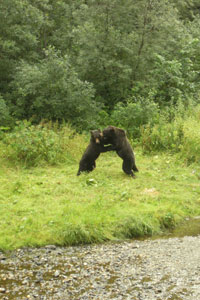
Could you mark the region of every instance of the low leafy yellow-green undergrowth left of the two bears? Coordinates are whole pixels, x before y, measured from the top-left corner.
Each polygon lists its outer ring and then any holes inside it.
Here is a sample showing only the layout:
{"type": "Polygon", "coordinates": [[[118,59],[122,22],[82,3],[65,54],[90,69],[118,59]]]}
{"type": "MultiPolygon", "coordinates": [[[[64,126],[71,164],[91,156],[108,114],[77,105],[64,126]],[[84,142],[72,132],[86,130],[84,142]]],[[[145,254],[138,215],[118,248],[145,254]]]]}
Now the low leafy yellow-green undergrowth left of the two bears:
{"type": "Polygon", "coordinates": [[[51,122],[39,125],[19,122],[13,131],[3,135],[2,141],[3,156],[26,167],[75,161],[84,145],[84,137],[69,125],[51,122]]]}

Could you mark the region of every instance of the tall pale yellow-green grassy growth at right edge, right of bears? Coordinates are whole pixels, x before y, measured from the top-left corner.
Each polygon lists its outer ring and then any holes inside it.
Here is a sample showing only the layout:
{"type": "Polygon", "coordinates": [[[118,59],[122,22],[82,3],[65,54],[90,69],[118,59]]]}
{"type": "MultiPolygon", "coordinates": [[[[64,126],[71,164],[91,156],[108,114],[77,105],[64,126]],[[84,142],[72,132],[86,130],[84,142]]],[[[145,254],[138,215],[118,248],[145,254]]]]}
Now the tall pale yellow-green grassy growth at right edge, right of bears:
{"type": "Polygon", "coordinates": [[[164,115],[159,122],[141,127],[141,145],[144,153],[172,151],[187,163],[200,161],[200,106],[175,113],[172,120],[164,115]]]}

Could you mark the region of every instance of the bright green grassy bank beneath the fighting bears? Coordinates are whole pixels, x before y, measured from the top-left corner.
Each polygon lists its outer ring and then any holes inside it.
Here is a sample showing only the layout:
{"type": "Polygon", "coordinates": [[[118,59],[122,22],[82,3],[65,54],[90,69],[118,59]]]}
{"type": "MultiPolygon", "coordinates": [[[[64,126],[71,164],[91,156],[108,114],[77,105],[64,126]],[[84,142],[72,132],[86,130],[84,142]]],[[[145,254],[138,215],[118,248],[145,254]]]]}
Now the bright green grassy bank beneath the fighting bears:
{"type": "Polygon", "coordinates": [[[144,156],[133,180],[115,153],[76,176],[70,165],[31,169],[0,166],[0,249],[76,245],[160,234],[186,216],[200,215],[200,166],[176,156],[144,156]]]}

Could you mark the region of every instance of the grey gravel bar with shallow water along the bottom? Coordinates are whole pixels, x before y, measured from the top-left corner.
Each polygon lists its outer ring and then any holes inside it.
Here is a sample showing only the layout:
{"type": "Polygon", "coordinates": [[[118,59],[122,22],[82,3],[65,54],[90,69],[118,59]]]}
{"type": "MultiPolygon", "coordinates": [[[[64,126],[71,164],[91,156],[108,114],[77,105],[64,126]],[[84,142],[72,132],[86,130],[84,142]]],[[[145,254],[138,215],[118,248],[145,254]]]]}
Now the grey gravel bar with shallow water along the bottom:
{"type": "Polygon", "coordinates": [[[0,299],[200,299],[200,236],[0,252],[0,299]]]}

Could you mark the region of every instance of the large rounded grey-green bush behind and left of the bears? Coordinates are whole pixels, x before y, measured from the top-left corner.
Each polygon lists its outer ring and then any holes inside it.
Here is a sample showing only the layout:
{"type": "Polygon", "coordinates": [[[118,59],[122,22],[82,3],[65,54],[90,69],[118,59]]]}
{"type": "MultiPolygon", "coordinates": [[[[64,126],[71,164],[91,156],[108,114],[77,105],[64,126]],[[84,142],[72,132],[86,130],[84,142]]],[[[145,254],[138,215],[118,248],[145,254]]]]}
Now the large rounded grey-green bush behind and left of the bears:
{"type": "Polygon", "coordinates": [[[95,126],[99,111],[92,84],[81,81],[69,57],[49,48],[35,65],[22,62],[12,82],[13,113],[40,122],[65,120],[81,130],[95,126]]]}

